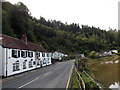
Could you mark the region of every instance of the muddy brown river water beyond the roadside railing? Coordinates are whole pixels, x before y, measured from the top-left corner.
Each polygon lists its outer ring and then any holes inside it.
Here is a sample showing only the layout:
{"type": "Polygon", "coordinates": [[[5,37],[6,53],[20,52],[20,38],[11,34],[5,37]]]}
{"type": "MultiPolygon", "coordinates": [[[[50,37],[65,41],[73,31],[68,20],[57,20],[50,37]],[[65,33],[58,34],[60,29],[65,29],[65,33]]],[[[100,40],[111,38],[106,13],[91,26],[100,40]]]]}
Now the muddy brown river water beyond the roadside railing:
{"type": "Polygon", "coordinates": [[[118,81],[118,63],[116,61],[102,61],[94,63],[90,66],[95,79],[98,80],[105,87],[113,87],[117,85],[118,81]]]}

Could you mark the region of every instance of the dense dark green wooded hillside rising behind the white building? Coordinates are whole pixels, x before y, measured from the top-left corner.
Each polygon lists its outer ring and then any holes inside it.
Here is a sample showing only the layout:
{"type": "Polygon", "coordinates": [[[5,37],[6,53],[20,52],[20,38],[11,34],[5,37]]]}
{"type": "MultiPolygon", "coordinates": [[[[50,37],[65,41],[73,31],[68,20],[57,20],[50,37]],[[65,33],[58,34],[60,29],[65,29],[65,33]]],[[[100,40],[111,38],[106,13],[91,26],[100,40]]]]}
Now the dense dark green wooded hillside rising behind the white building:
{"type": "Polygon", "coordinates": [[[80,28],[76,23],[68,25],[56,20],[47,21],[44,17],[36,19],[21,2],[15,5],[4,2],[2,16],[3,34],[20,39],[26,33],[28,41],[42,44],[49,51],[88,54],[120,47],[120,31],[86,25],[80,28]]]}

